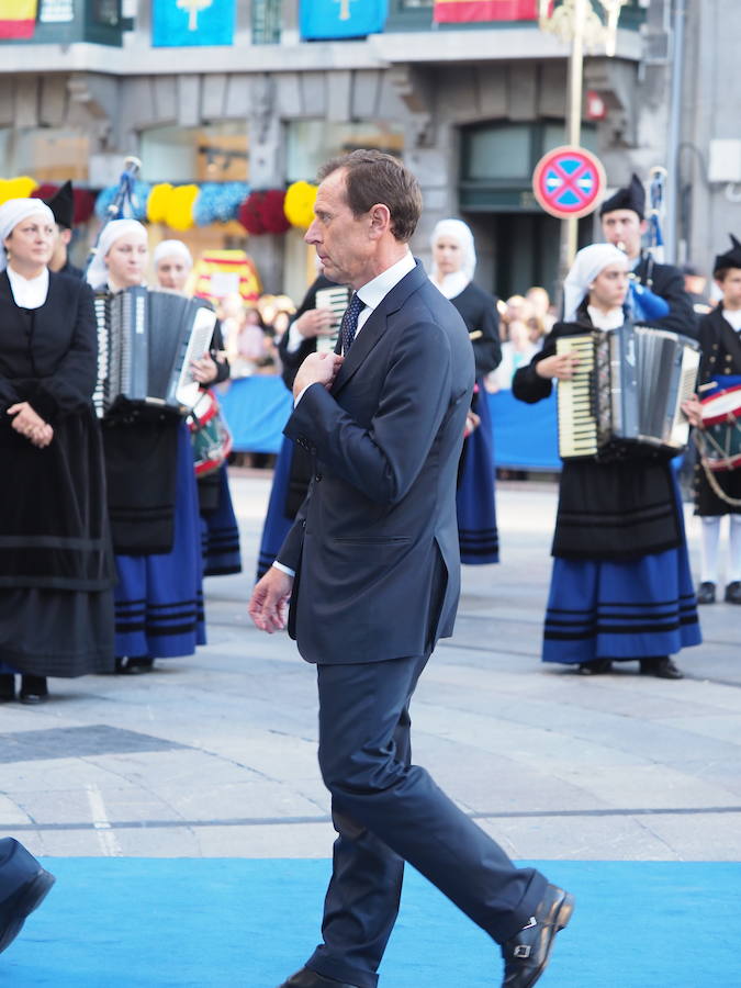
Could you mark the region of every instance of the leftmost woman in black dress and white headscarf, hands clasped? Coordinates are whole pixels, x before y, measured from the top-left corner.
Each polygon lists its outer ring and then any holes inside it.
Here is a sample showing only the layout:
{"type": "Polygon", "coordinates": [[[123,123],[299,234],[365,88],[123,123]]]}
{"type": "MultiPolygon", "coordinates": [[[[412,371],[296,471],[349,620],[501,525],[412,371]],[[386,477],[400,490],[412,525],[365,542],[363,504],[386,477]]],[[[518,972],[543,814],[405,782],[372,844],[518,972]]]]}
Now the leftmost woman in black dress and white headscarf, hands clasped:
{"type": "Polygon", "coordinates": [[[0,206],[0,700],[113,669],[114,579],[92,394],[92,292],[48,269],[54,214],[0,206]]]}

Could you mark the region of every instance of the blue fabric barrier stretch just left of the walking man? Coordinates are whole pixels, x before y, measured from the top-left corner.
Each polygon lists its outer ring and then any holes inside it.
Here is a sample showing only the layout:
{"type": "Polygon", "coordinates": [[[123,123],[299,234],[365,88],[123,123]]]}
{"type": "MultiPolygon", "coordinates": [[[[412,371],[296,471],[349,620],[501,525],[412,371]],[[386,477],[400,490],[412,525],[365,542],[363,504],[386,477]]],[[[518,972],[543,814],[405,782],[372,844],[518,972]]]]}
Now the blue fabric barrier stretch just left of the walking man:
{"type": "Polygon", "coordinates": [[[277,374],[237,378],[218,392],[222,413],[234,438],[235,452],[274,452],[283,441],[293,401],[277,374]]]}

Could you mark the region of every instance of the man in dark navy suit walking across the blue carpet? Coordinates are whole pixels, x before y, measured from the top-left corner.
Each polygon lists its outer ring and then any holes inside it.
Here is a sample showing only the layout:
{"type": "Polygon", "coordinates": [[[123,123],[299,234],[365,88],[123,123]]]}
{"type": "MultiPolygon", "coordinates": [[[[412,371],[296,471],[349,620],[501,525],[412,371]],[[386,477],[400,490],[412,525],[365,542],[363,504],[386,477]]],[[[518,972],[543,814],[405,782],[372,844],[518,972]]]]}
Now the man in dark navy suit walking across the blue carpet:
{"type": "Polygon", "coordinates": [[[323,942],[281,988],[375,988],[404,862],[502,945],[505,984],[534,985],[573,900],[502,849],[411,764],[409,701],[452,632],[456,473],[473,388],[465,326],[408,250],[422,198],[395,158],[358,150],[321,173],[306,240],[355,289],[343,355],[314,353],[287,435],[312,490],[255,588],[258,628],[317,664],[319,766],[338,838],[323,942]]]}

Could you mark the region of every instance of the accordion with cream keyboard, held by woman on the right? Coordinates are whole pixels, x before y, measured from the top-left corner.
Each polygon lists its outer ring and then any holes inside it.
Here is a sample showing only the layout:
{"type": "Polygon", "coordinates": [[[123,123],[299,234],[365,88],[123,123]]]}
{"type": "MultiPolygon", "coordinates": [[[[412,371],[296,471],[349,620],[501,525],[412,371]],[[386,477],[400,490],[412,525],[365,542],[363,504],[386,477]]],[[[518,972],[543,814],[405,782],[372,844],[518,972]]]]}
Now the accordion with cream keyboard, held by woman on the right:
{"type": "Polygon", "coordinates": [[[699,369],[694,339],[627,323],[561,337],[555,351],[580,358],[573,378],[558,382],[561,459],[673,457],[687,445],[682,402],[693,394],[699,369]]]}

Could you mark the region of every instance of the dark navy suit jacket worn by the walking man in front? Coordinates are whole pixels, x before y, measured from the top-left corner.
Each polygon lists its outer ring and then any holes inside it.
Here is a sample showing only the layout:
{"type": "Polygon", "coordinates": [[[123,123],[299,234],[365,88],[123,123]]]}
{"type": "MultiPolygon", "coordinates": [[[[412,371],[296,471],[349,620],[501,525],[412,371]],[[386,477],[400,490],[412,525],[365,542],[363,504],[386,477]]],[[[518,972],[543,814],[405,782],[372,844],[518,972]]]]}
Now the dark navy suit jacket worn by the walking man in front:
{"type": "Polygon", "coordinates": [[[314,452],[316,476],[278,559],[296,571],[289,631],[307,661],[422,655],[452,633],[473,377],[465,325],[417,263],[332,392],[313,384],[299,402],[285,435],[314,452]]]}

